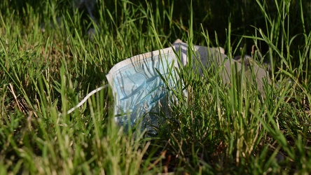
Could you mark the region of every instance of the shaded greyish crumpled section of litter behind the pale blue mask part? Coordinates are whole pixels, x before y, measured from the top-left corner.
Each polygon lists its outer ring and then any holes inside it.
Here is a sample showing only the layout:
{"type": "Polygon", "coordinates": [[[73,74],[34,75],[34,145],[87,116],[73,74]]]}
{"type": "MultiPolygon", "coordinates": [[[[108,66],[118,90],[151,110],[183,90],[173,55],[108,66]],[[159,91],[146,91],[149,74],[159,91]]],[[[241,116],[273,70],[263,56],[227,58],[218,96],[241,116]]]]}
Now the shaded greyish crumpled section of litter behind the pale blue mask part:
{"type": "Polygon", "coordinates": [[[180,52],[181,63],[186,66],[186,64],[193,64],[193,69],[198,69],[199,73],[202,75],[202,69],[213,67],[214,70],[219,71],[222,78],[222,82],[230,85],[230,79],[236,77],[237,75],[244,75],[244,82],[247,83],[249,88],[257,88],[261,92],[261,97],[265,98],[264,86],[265,83],[270,83],[270,78],[268,72],[265,71],[256,62],[254,64],[245,64],[244,69],[242,62],[238,62],[235,59],[228,59],[227,55],[224,54],[223,48],[208,48],[200,45],[193,45],[193,57],[197,57],[202,62],[204,67],[196,67],[194,59],[188,59],[188,44],[177,39],[173,43],[177,52],[180,52]],[[189,62],[193,60],[193,62],[189,62]]]}

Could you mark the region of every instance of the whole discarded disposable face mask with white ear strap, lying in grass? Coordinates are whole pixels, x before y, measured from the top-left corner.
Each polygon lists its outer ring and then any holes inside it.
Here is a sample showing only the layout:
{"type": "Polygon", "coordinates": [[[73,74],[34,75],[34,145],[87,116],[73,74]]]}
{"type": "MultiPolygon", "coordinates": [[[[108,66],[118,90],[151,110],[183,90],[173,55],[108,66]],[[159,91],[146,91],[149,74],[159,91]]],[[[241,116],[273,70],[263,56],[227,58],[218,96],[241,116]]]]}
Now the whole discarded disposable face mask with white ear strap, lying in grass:
{"type": "MultiPolygon", "coordinates": [[[[143,129],[146,128],[149,131],[153,130],[153,126],[157,126],[156,114],[162,111],[166,115],[170,109],[170,102],[174,99],[172,90],[177,87],[177,81],[179,81],[176,70],[180,69],[180,66],[189,64],[190,60],[194,60],[188,59],[188,49],[187,43],[177,40],[171,48],[136,55],[111,68],[106,78],[113,91],[115,121],[118,125],[133,126],[139,121],[143,129]],[[180,62],[177,61],[174,50],[180,57],[180,62]]],[[[268,73],[257,64],[242,69],[240,62],[227,59],[223,48],[193,45],[191,51],[193,51],[193,57],[197,57],[202,62],[202,66],[198,68],[192,63],[193,69],[198,69],[202,74],[203,67],[214,66],[214,69],[219,70],[223,83],[229,84],[233,75],[244,70],[246,80],[257,87],[264,97],[264,81],[270,81],[270,78],[268,73]]],[[[67,113],[74,111],[88,97],[105,87],[107,85],[90,92],[83,101],[67,113]]]]}

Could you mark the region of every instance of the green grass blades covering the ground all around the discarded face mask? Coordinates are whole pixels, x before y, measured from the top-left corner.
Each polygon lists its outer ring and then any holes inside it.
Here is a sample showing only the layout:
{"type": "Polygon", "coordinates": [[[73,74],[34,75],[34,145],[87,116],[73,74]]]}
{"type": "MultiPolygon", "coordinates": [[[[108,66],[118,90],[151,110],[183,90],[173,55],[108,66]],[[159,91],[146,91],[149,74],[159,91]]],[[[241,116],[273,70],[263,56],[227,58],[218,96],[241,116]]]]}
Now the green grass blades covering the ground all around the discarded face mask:
{"type": "Polygon", "coordinates": [[[64,1],[36,3],[0,4],[0,174],[311,172],[309,2],[258,0],[251,10],[239,1],[242,17],[237,5],[218,17],[214,1],[99,1],[93,38],[81,13],[66,10],[64,1]],[[226,24],[209,27],[217,19],[226,24]],[[238,27],[240,20],[252,27],[238,27]],[[67,115],[107,84],[114,64],[177,38],[221,46],[228,57],[265,45],[261,55],[272,64],[265,99],[240,77],[227,86],[212,69],[200,76],[185,66],[179,76],[188,97],[176,90],[179,101],[158,134],[116,126],[110,88],[67,115]]]}

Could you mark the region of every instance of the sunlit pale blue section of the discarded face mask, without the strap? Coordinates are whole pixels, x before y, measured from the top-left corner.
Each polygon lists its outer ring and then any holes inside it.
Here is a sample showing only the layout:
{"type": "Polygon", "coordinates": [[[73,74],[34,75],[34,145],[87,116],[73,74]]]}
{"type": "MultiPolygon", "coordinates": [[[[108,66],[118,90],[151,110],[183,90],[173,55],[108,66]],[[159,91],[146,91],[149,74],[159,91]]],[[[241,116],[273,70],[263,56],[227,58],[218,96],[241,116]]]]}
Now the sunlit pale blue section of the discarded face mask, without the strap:
{"type": "Polygon", "coordinates": [[[142,129],[153,130],[158,124],[153,113],[168,111],[169,88],[176,85],[178,68],[172,48],[130,57],[113,66],[106,78],[113,91],[116,123],[128,127],[142,120],[142,129]]]}

